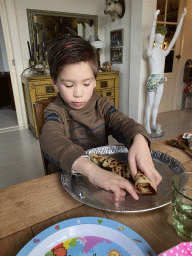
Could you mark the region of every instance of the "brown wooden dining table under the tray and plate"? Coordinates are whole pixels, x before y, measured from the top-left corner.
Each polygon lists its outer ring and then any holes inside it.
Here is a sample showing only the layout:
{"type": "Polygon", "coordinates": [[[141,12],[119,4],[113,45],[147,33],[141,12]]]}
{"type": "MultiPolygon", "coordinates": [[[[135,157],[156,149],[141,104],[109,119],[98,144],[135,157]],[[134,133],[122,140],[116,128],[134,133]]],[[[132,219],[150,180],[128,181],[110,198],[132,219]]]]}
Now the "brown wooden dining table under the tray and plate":
{"type": "MultiPolygon", "coordinates": [[[[155,142],[152,149],[180,161],[192,169],[192,155],[185,150],[155,142]]],[[[101,211],[76,201],[55,173],[0,190],[0,255],[14,256],[34,236],[60,221],[95,216],[118,221],[142,236],[159,254],[181,242],[170,222],[171,204],[142,213],[101,211]]]]}

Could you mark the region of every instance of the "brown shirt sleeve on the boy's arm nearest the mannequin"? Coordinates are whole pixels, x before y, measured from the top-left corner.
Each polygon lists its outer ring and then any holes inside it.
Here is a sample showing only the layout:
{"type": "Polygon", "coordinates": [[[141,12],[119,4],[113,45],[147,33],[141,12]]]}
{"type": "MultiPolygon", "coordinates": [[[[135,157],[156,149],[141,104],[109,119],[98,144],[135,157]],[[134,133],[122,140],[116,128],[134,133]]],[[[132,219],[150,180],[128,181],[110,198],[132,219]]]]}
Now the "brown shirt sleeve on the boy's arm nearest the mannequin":
{"type": "Polygon", "coordinates": [[[119,143],[123,143],[129,149],[134,136],[142,134],[151,147],[148,133],[143,125],[118,111],[108,98],[102,98],[100,106],[105,117],[108,135],[112,135],[119,143]]]}

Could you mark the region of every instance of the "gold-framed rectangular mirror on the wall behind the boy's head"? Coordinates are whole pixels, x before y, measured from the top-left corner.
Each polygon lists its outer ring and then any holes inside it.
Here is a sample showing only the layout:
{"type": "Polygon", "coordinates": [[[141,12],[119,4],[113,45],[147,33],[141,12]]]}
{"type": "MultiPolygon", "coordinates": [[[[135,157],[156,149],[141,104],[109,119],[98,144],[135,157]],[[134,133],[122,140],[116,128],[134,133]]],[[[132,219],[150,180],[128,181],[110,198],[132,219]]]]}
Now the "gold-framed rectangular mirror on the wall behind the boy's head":
{"type": "Polygon", "coordinates": [[[80,35],[84,39],[98,37],[98,16],[27,9],[30,42],[30,59],[46,61],[49,42],[61,35],[80,35]]]}

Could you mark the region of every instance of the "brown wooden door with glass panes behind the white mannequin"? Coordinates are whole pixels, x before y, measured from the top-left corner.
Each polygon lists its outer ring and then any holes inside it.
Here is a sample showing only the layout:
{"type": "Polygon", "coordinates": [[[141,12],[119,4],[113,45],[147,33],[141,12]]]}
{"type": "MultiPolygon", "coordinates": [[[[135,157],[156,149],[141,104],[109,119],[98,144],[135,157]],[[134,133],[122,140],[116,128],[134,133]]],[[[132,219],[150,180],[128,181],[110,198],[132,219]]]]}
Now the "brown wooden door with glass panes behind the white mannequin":
{"type": "MultiPolygon", "coordinates": [[[[180,0],[157,0],[157,9],[160,14],[157,18],[157,26],[166,26],[168,33],[165,36],[163,49],[167,49],[171,42],[183,11],[183,1],[180,0]]],[[[182,28],[179,37],[165,60],[165,76],[167,82],[164,85],[163,97],[159,105],[159,112],[171,111],[174,109],[175,84],[180,62],[182,28]]]]}

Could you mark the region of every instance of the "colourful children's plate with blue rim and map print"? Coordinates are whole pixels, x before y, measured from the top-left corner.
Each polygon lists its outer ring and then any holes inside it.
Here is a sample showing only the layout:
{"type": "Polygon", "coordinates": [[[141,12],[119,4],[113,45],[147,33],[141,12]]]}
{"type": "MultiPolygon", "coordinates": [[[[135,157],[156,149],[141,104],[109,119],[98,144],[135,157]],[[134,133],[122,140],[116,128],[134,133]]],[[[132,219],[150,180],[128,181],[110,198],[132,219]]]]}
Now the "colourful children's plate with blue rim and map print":
{"type": "Polygon", "coordinates": [[[17,256],[157,256],[127,226],[104,218],[82,217],[55,224],[35,236],[17,256]]]}

